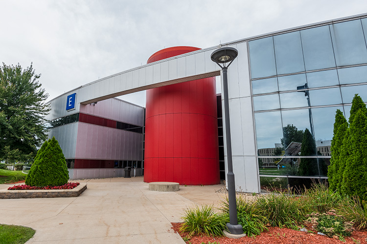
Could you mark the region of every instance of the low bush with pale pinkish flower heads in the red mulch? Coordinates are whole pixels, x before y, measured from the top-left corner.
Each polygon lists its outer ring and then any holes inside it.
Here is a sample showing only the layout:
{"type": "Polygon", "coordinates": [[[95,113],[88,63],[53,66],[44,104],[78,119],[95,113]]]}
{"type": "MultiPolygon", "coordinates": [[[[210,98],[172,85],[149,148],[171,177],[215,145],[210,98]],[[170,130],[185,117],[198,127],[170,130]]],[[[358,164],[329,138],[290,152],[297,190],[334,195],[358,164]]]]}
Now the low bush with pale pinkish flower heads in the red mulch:
{"type": "Polygon", "coordinates": [[[317,231],[328,237],[350,236],[353,231],[353,223],[344,222],[343,216],[337,215],[333,209],[323,214],[312,213],[309,215],[308,221],[317,231]]]}

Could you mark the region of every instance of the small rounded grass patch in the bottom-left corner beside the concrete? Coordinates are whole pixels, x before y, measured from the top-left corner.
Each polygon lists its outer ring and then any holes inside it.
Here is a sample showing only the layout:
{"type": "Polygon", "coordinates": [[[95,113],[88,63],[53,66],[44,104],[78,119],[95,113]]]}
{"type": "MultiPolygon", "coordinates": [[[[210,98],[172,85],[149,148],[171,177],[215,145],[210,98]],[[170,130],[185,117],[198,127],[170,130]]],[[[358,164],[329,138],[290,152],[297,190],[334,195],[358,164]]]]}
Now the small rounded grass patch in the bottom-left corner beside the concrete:
{"type": "Polygon", "coordinates": [[[0,224],[1,244],[23,244],[31,239],[36,231],[19,225],[0,224]]]}

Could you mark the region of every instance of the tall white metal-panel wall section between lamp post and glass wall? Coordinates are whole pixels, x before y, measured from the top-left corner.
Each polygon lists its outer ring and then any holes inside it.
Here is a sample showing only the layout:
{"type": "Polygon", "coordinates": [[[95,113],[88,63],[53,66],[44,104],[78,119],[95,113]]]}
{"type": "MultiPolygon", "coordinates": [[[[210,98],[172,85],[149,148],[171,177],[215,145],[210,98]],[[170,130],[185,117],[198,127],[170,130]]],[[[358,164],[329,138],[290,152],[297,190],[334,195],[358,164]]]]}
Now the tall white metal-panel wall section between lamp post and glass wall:
{"type": "MultiPolygon", "coordinates": [[[[228,68],[230,136],[236,190],[259,193],[247,42],[232,47],[238,50],[238,58],[228,68]]],[[[224,113],[223,100],[222,109],[224,113]]],[[[223,128],[225,126],[226,122],[223,121],[223,128]]],[[[225,129],[223,134],[226,138],[225,129]]],[[[226,140],[224,147],[227,172],[226,140]]]]}

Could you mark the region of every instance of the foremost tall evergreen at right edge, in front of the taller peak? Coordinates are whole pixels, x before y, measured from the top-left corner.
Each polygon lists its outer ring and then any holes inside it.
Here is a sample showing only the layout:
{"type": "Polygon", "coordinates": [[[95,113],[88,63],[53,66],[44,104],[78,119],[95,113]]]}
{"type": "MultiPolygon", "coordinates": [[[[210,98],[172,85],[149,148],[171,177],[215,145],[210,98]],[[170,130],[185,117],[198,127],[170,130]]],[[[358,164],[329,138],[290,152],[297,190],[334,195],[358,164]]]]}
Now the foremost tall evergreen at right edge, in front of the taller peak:
{"type": "Polygon", "coordinates": [[[352,154],[346,160],[342,193],[367,200],[367,116],[363,109],[354,113],[349,130],[352,154]]]}

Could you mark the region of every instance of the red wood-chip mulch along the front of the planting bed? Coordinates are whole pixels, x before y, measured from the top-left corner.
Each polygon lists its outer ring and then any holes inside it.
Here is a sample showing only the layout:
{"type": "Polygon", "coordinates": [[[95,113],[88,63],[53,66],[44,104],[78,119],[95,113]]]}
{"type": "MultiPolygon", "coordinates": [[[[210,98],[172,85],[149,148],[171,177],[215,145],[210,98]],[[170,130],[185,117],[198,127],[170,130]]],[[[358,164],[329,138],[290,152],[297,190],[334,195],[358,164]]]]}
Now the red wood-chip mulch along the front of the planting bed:
{"type": "MultiPolygon", "coordinates": [[[[181,237],[187,237],[187,232],[180,232],[181,223],[171,223],[172,229],[181,237]]],[[[306,226],[310,230],[310,226],[306,226]]],[[[227,237],[192,236],[188,243],[202,244],[367,244],[367,230],[353,231],[350,237],[345,237],[345,242],[332,239],[315,233],[301,232],[288,228],[269,227],[256,237],[242,237],[240,239],[229,239],[227,237]],[[353,241],[353,239],[355,241],[353,241]]]]}

